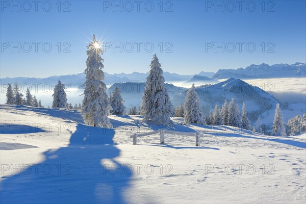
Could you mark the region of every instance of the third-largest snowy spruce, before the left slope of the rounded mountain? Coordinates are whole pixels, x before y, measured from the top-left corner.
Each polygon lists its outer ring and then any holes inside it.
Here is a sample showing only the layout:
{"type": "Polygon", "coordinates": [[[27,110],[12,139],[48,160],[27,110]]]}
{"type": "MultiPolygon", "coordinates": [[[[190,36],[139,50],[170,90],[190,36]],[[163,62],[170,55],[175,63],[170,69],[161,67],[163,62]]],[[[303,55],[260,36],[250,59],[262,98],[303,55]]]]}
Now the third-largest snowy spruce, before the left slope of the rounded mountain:
{"type": "Polygon", "coordinates": [[[184,119],[187,124],[205,124],[200,99],[198,97],[198,94],[195,92],[194,84],[192,84],[192,87],[187,91],[185,97],[184,119]]]}

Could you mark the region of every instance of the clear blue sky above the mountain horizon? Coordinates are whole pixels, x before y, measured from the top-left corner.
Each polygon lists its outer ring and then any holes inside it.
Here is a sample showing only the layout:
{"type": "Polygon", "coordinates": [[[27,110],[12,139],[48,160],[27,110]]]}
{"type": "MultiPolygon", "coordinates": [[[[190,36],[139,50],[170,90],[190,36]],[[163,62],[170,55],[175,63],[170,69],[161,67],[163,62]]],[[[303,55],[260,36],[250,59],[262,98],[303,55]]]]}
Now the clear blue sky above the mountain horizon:
{"type": "Polygon", "coordinates": [[[1,78],[83,72],[92,34],[108,73],[305,62],[305,2],[1,1],[1,78]]]}

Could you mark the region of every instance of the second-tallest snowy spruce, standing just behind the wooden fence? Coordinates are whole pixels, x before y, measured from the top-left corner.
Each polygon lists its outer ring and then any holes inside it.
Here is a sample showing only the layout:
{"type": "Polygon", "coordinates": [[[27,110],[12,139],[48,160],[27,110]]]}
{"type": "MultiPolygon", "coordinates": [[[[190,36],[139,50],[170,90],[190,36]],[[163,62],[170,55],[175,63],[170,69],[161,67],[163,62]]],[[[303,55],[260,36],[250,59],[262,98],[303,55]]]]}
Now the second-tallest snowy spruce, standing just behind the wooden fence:
{"type": "Polygon", "coordinates": [[[163,70],[156,54],[153,56],[150,67],[142,96],[141,114],[145,121],[171,124],[170,117],[173,116],[174,110],[168,92],[164,88],[163,70]]]}

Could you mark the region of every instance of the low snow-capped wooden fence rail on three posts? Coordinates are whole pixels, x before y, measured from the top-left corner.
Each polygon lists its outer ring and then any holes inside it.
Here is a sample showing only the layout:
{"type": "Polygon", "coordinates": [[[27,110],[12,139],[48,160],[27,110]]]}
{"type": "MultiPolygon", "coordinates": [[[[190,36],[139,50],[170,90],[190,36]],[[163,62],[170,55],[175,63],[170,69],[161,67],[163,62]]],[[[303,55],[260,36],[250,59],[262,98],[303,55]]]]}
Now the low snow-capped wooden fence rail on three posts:
{"type": "Polygon", "coordinates": [[[165,143],[165,134],[176,134],[181,136],[193,136],[195,137],[195,146],[200,146],[200,135],[203,135],[199,132],[196,133],[187,133],[187,132],[180,132],[180,131],[170,131],[167,129],[159,129],[158,131],[152,131],[149,133],[141,133],[141,134],[134,134],[131,135],[130,138],[133,138],[133,144],[137,144],[137,137],[143,137],[148,135],[160,134],[160,143],[165,143]]]}

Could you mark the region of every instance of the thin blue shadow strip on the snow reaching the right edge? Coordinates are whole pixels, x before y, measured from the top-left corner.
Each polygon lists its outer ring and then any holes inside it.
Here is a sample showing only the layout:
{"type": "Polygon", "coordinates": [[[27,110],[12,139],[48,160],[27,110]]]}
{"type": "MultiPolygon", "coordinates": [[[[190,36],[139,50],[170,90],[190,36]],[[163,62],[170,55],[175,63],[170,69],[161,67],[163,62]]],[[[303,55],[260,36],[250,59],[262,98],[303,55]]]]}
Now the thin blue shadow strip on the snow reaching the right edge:
{"type": "MultiPolygon", "coordinates": [[[[211,133],[207,133],[207,134],[211,134],[211,133]]],[[[300,148],[304,148],[304,149],[306,148],[306,143],[305,142],[300,142],[300,141],[295,141],[295,140],[259,138],[259,137],[244,136],[244,135],[239,135],[239,134],[214,134],[214,133],[212,133],[212,135],[217,135],[217,136],[222,136],[222,137],[241,137],[241,138],[267,140],[267,141],[272,141],[272,142],[279,142],[279,143],[283,143],[283,144],[288,144],[288,145],[291,145],[291,146],[300,147],[300,148]]]]}

